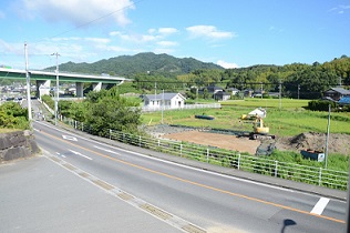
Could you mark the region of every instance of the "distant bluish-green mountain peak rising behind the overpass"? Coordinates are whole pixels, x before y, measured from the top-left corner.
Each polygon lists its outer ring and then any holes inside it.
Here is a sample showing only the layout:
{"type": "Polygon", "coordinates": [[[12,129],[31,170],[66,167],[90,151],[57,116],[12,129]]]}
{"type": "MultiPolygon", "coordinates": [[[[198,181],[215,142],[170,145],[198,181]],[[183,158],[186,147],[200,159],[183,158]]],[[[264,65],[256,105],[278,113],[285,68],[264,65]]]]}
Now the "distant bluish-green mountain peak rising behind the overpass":
{"type": "MultiPolygon", "coordinates": [[[[48,68],[47,70],[53,69],[54,68],[48,68]]],[[[178,74],[189,73],[198,69],[223,70],[224,68],[214,63],[205,63],[193,58],[179,59],[164,53],[155,54],[152,52],[121,55],[107,60],[100,60],[94,63],[68,62],[60,64],[61,71],[90,74],[107,73],[125,78],[133,78],[136,73],[153,73],[175,78],[178,74]]]]}

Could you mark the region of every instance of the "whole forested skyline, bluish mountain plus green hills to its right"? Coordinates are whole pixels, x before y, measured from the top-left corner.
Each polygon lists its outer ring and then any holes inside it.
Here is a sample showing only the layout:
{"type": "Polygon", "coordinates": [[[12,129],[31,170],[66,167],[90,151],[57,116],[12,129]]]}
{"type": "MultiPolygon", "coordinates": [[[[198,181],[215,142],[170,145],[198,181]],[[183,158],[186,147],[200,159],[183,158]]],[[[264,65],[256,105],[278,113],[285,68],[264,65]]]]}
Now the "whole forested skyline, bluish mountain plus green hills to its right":
{"type": "MultiPolygon", "coordinates": [[[[50,68],[54,70],[54,68],[50,68]]],[[[238,90],[278,92],[284,97],[318,99],[329,88],[350,87],[350,58],[342,55],[332,61],[312,64],[257,64],[247,68],[224,69],[193,58],[178,59],[168,54],[138,53],[121,55],[94,63],[60,64],[60,71],[107,73],[133,79],[133,87],[147,93],[154,90],[177,91],[184,88],[205,88],[209,84],[238,90]]]]}

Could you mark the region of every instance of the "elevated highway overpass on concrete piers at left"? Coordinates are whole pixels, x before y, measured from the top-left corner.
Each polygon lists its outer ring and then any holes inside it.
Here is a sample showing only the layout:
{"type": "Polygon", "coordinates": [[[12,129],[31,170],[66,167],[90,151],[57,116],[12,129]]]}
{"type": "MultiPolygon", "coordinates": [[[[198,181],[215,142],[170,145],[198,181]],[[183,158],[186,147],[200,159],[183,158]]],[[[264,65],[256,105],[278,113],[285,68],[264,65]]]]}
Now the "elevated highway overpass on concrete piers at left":
{"type": "MultiPolygon", "coordinates": [[[[38,95],[45,94],[50,91],[51,81],[56,80],[55,72],[48,71],[35,71],[30,70],[29,75],[31,81],[37,82],[37,93],[38,95]]],[[[25,70],[0,68],[1,79],[14,79],[14,80],[25,80],[25,70]]],[[[93,75],[93,74],[81,74],[81,73],[66,73],[59,72],[59,81],[62,82],[75,82],[76,97],[83,97],[83,83],[92,83],[93,90],[100,91],[107,84],[122,84],[124,81],[130,81],[122,77],[111,77],[111,75],[93,75]]]]}

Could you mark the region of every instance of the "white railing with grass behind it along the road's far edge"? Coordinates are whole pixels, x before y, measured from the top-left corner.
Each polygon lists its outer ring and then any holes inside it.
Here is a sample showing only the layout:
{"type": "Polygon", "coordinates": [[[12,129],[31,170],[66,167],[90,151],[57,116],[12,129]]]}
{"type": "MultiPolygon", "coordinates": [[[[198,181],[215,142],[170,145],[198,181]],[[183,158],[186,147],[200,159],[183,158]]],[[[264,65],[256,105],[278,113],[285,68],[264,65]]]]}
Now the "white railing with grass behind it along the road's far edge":
{"type": "MultiPolygon", "coordinates": [[[[76,130],[90,133],[90,125],[66,118],[62,118],[62,121],[76,130]]],[[[134,135],[113,130],[106,130],[105,134],[109,135],[111,140],[122,143],[225,168],[338,190],[347,190],[348,188],[349,175],[343,171],[279,162],[266,158],[243,155],[238,151],[210,148],[168,139],[134,135]]]]}

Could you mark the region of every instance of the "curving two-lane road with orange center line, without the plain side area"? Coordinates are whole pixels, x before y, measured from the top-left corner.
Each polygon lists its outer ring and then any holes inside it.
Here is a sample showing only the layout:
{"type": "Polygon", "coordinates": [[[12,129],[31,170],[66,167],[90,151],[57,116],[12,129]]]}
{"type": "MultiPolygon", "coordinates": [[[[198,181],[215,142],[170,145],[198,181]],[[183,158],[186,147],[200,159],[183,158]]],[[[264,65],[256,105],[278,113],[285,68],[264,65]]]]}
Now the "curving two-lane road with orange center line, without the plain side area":
{"type": "Polygon", "coordinates": [[[94,142],[47,123],[35,123],[34,129],[50,162],[78,174],[82,183],[89,181],[110,194],[114,190],[115,196],[133,196],[131,200],[137,201],[132,202],[143,204],[124,202],[136,209],[152,206],[154,211],[146,210],[151,216],[168,214],[159,222],[169,225],[179,219],[179,225],[207,232],[320,233],[346,229],[344,201],[193,169],[94,142]]]}

